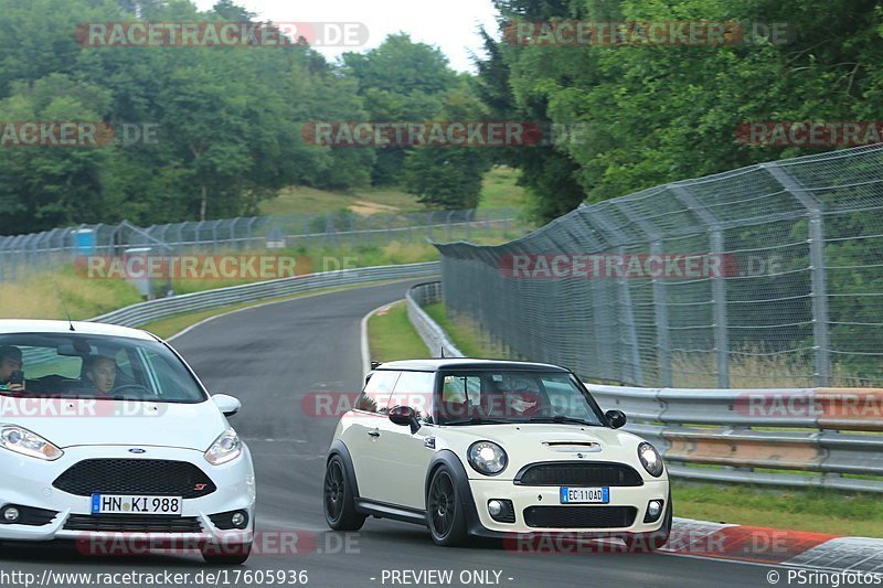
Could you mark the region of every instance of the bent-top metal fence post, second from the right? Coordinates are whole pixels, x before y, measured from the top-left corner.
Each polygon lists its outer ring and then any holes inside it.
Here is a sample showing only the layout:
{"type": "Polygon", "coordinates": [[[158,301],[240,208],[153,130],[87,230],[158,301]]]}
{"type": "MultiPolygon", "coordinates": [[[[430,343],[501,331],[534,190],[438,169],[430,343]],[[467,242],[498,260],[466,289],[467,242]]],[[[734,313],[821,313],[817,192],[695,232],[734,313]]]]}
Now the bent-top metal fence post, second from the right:
{"type": "MultiPolygon", "coordinates": [[[[711,254],[722,255],[724,253],[724,234],[717,217],[698,197],[690,192],[685,185],[669,184],[669,190],[688,209],[702,218],[706,225],[711,237],[709,239],[711,254]]],[[[730,387],[730,336],[726,332],[726,285],[721,272],[713,276],[711,282],[712,303],[714,304],[714,350],[717,355],[717,387],[730,387]]]]}

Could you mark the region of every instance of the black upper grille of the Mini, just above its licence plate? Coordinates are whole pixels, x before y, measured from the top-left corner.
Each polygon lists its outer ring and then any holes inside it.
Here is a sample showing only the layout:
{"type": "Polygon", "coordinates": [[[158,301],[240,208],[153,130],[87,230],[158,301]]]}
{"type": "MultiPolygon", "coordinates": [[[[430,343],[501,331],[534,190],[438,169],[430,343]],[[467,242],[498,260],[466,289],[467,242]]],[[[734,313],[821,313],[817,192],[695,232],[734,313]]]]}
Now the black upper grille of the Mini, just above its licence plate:
{"type": "Polygon", "coordinates": [[[634,468],[621,463],[535,463],[515,474],[521,485],[643,485],[634,468]]]}

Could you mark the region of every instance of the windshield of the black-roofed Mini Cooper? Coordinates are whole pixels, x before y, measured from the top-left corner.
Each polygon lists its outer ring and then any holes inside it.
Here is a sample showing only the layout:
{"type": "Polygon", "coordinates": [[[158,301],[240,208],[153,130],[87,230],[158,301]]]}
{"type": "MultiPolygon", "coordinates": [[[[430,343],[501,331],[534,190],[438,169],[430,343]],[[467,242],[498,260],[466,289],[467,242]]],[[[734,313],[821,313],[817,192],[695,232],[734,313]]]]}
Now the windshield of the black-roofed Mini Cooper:
{"type": "Polygon", "coordinates": [[[438,416],[442,425],[603,424],[594,403],[561,372],[445,372],[438,416]]]}

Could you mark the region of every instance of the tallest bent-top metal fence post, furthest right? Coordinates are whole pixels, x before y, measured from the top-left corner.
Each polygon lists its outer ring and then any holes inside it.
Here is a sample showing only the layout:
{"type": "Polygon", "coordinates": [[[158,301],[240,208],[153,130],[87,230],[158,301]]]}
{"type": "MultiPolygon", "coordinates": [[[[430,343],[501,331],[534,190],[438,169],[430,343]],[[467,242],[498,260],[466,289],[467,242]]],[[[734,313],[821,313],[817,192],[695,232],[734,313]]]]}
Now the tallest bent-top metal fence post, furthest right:
{"type": "Polygon", "coordinates": [[[800,181],[776,162],[760,163],[808,211],[809,266],[812,284],[812,339],[816,348],[816,384],[831,382],[831,341],[828,318],[828,277],[825,269],[825,216],[821,202],[800,181]]]}

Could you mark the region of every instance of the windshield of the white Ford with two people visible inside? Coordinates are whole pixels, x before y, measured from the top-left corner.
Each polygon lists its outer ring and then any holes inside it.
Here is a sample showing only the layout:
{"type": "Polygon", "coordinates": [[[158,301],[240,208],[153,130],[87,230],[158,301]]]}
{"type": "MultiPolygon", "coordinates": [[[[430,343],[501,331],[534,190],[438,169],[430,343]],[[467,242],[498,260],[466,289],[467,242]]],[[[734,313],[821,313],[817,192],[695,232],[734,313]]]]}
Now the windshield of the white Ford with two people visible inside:
{"type": "Polygon", "coordinates": [[[78,333],[0,335],[0,394],[159,403],[206,399],[162,343],[78,333]]]}

